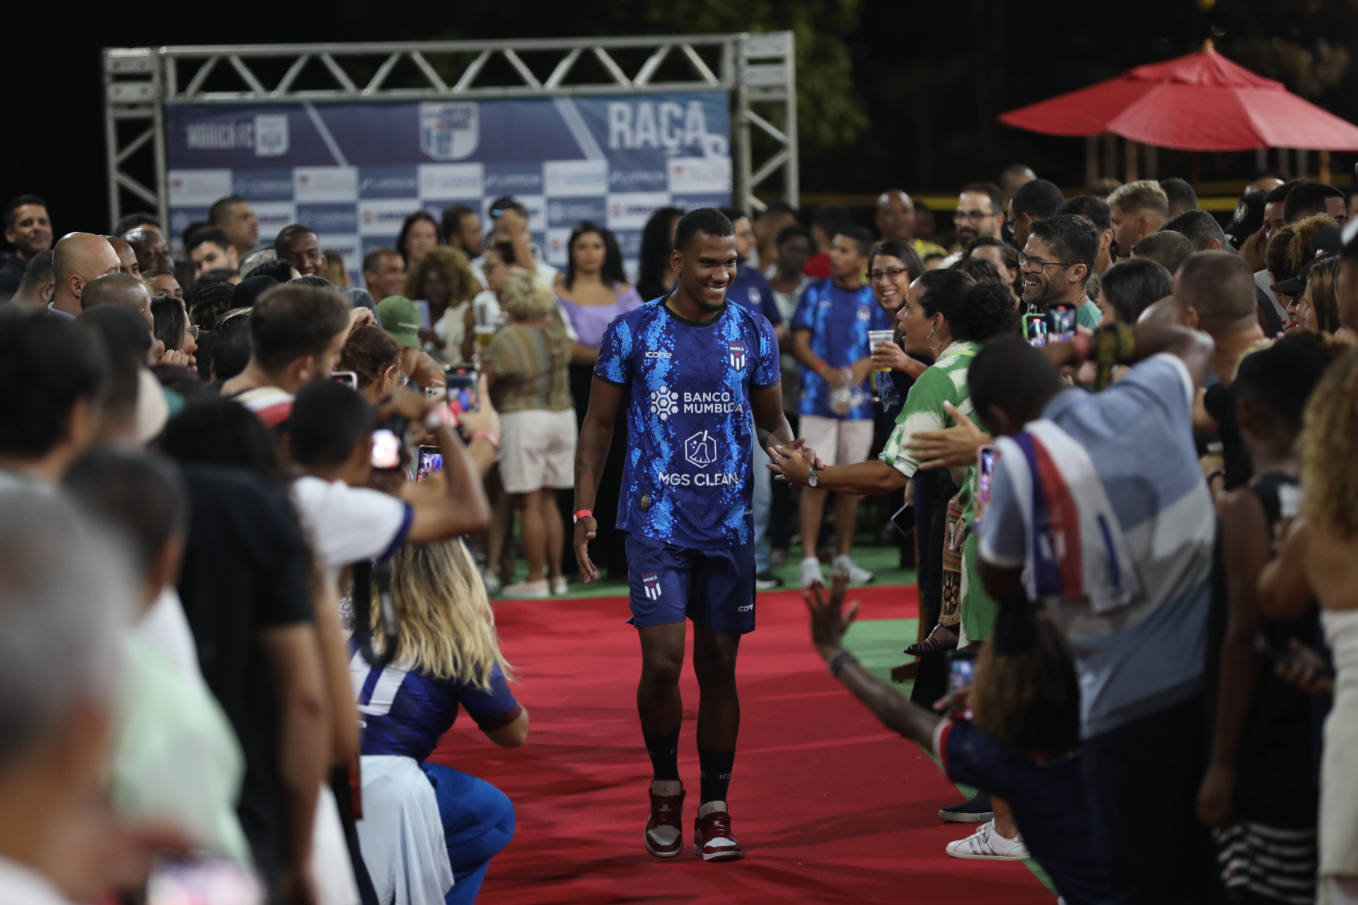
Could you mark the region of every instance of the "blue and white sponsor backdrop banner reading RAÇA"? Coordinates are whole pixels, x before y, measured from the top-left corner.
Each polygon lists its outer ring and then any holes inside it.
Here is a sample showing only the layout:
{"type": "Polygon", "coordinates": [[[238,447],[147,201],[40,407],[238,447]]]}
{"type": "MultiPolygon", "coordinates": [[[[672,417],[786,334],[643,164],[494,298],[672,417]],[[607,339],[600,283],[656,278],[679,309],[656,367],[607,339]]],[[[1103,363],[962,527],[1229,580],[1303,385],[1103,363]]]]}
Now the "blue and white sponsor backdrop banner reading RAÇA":
{"type": "Polygon", "coordinates": [[[731,201],[731,117],[720,91],[452,103],[171,106],[174,242],[213,201],[243,195],[259,240],[301,223],[344,255],[395,246],[424,208],[441,218],[513,195],[546,261],[564,267],[572,227],[618,235],[636,275],[641,228],[657,208],[731,201]]]}

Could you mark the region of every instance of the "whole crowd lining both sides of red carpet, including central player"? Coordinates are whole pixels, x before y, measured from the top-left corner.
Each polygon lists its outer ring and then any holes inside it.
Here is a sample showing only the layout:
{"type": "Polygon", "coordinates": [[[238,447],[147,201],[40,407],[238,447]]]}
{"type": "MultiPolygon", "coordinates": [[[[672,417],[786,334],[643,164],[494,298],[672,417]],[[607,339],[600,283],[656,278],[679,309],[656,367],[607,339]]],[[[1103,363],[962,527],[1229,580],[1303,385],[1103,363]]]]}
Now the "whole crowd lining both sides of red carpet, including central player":
{"type": "Polygon", "coordinates": [[[899,189],[875,229],[661,208],[627,274],[588,221],[549,266],[505,197],[350,286],[240,197],[60,239],[15,198],[0,900],[473,902],[513,805],[437,749],[459,708],[530,727],[492,598],[603,570],[645,849],[684,848],[691,619],[694,852],[741,858],[739,640],[800,547],[830,673],[982,790],[949,855],[1069,905],[1358,902],[1350,201],[1263,175],[1222,227],[1180,179],[1014,166],[947,231],[899,189]],[[845,646],[865,497],[918,570],[910,699],[845,646]]]}

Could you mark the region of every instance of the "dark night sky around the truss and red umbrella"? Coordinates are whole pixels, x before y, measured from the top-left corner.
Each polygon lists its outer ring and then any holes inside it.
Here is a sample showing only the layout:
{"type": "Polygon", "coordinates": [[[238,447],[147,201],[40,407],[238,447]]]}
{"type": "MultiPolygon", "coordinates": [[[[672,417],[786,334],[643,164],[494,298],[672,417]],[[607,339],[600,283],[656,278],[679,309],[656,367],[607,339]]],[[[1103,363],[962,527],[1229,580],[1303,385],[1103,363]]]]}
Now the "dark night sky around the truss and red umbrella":
{"type": "MultiPolygon", "coordinates": [[[[617,1],[617,0],[614,0],[617,1]]],[[[828,0],[827,0],[828,1],[828,0]]],[[[812,193],[872,193],[888,185],[952,191],[972,178],[994,178],[1013,160],[1058,185],[1082,182],[1082,142],[1031,136],[993,125],[995,114],[1111,77],[1141,62],[1196,49],[1213,23],[1232,39],[1266,39],[1270,28],[1301,41],[1336,35],[1355,46],[1354,12],[1344,4],[1324,23],[1266,22],[1259,3],[1222,0],[1205,14],[1186,0],[1089,4],[1048,0],[974,0],[922,4],[862,0],[860,27],[845,35],[856,91],[872,121],[854,142],[803,152],[801,185],[812,193]],[[1233,33],[1232,28],[1237,31],[1233,33]],[[985,98],[980,98],[980,92],[985,98]]],[[[1277,8],[1290,7],[1281,4],[1277,8]]],[[[102,8],[30,5],[7,11],[10,96],[0,149],[0,198],[42,194],[61,232],[103,229],[107,205],[100,115],[99,49],[159,43],[281,43],[448,37],[530,37],[611,30],[591,18],[603,0],[576,4],[467,0],[383,4],[335,0],[285,4],[276,19],[239,4],[144,0],[102,8]],[[88,9],[88,14],[87,14],[88,9]],[[57,12],[54,16],[53,12],[57,12]],[[191,11],[191,12],[190,12],[191,11]],[[591,27],[592,23],[592,27],[591,27]]],[[[637,15],[636,9],[626,15],[637,15]]],[[[623,15],[623,14],[617,14],[623,15]]],[[[637,34],[623,28],[621,34],[637,34]]],[[[1358,56],[1358,54],[1355,54],[1358,56]]],[[[1320,99],[1358,119],[1358,76],[1320,99]]],[[[1161,153],[1161,178],[1188,175],[1188,156],[1161,153]]],[[[1203,179],[1245,178],[1253,155],[1203,155],[1203,179]]],[[[1343,172],[1353,160],[1336,157],[1343,172]]],[[[1313,164],[1315,166],[1315,164],[1313,164]]]]}

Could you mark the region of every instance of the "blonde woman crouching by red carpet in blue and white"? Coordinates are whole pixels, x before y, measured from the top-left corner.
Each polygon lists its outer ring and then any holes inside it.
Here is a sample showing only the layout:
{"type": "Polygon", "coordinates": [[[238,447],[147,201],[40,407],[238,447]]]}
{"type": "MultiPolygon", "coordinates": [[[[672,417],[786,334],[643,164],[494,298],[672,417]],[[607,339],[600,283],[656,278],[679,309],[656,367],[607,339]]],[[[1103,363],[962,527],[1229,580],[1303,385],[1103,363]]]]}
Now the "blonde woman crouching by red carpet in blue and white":
{"type": "MultiPolygon", "coordinates": [[[[528,711],[509,692],[494,613],[460,540],[401,548],[391,558],[391,602],[399,630],[390,665],[371,666],[350,639],[349,672],[364,719],[359,840],[382,901],[391,901],[383,894],[391,891],[411,904],[470,905],[490,859],[513,839],[513,805],[490,783],[428,757],[459,706],[502,748],[523,745],[528,711]],[[437,825],[430,825],[429,786],[437,825]]],[[[382,653],[378,606],[372,621],[382,653]]]]}

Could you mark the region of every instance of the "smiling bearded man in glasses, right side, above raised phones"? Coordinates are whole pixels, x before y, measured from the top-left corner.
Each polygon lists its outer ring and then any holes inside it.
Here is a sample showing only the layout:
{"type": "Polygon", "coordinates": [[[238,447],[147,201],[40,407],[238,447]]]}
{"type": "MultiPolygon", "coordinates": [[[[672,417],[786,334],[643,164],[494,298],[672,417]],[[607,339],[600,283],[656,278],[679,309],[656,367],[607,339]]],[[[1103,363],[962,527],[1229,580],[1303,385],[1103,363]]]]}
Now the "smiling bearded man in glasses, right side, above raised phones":
{"type": "Polygon", "coordinates": [[[1093,330],[1103,313],[1089,301],[1085,284],[1099,256],[1099,233],[1082,217],[1057,214],[1032,224],[1019,255],[1023,300],[1038,311],[1058,303],[1076,308],[1076,320],[1093,330]]]}

